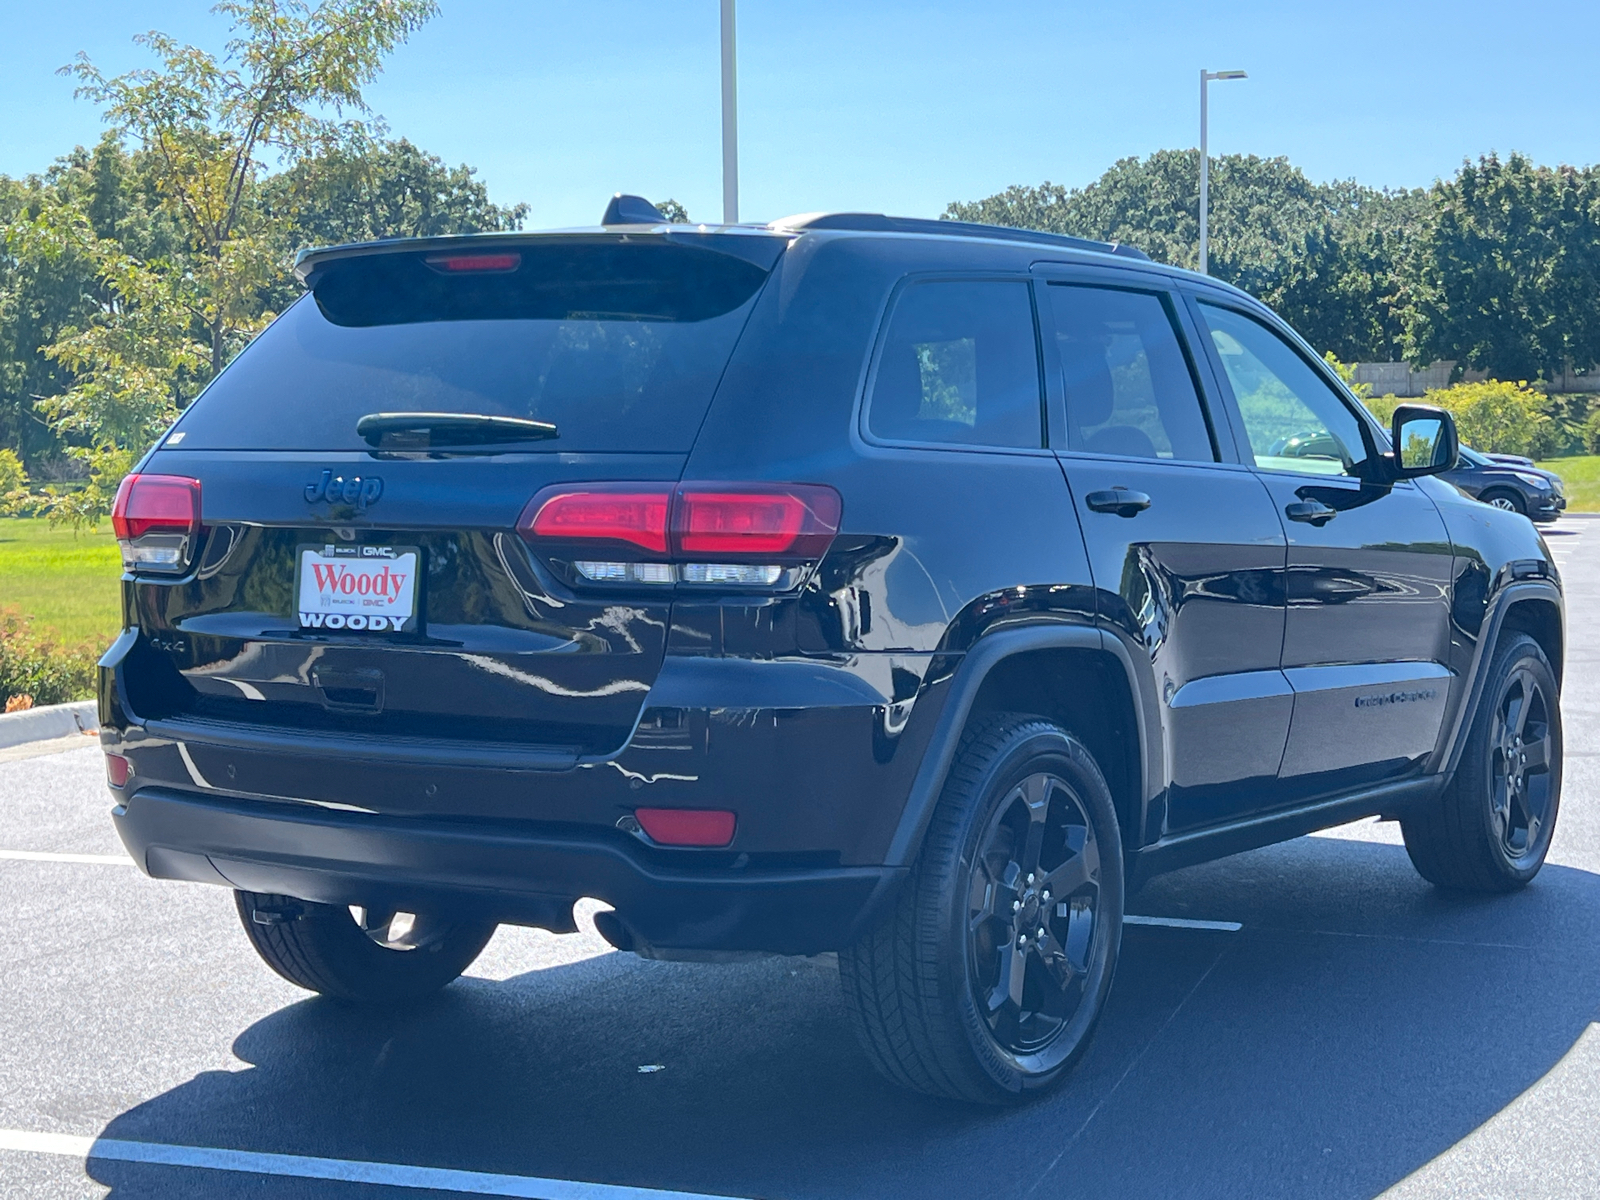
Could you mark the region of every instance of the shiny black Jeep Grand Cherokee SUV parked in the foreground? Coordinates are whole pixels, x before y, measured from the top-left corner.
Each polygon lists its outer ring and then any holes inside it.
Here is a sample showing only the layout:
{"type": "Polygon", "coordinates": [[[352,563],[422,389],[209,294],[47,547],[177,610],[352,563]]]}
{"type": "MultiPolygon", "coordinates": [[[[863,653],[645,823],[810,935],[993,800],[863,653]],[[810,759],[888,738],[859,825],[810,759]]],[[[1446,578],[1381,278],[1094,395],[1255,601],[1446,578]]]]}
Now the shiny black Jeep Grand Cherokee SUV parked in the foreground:
{"type": "Polygon", "coordinates": [[[1368,814],[1539,870],[1544,542],[1240,291],[872,214],[299,275],[123,483],[99,691],[128,850],[296,984],[418,997],[592,896],[642,955],[837,950],[886,1075],[997,1102],[1157,872],[1368,814]]]}

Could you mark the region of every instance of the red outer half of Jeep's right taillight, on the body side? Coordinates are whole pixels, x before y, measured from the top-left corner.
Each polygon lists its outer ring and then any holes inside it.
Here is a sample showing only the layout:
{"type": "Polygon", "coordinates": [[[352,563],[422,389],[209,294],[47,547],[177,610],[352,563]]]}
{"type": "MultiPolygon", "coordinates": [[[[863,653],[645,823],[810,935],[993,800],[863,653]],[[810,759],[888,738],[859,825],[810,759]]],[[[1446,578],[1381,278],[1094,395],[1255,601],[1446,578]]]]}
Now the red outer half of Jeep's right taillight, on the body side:
{"type": "Polygon", "coordinates": [[[838,514],[832,488],[714,491],[685,485],[672,512],[672,541],[678,554],[698,558],[813,557],[838,533],[838,514]]]}

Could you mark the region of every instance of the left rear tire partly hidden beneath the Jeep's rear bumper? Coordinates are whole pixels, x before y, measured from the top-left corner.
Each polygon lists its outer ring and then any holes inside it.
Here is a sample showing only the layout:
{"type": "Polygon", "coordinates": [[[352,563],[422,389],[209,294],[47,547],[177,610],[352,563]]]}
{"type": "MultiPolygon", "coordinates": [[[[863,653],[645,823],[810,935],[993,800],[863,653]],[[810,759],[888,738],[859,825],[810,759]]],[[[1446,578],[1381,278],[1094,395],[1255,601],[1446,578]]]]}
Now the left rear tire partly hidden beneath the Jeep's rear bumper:
{"type": "Polygon", "coordinates": [[[291,984],[358,1005],[397,1005],[432,995],[466,971],[494,925],[418,915],[410,930],[395,914],[355,914],[341,904],[235,891],[245,936],[291,984]]]}

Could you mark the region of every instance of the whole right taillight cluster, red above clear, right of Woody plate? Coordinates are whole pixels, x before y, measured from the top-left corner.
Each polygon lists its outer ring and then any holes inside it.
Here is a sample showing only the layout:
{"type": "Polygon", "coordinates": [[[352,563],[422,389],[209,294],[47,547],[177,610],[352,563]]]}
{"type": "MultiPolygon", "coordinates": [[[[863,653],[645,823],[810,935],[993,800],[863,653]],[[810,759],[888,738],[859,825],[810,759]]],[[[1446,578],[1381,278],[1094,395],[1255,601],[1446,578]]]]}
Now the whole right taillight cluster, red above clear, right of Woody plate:
{"type": "Polygon", "coordinates": [[[517,531],[574,582],[787,590],[827,554],[840,510],[814,483],[582,483],[541,491],[517,531]]]}

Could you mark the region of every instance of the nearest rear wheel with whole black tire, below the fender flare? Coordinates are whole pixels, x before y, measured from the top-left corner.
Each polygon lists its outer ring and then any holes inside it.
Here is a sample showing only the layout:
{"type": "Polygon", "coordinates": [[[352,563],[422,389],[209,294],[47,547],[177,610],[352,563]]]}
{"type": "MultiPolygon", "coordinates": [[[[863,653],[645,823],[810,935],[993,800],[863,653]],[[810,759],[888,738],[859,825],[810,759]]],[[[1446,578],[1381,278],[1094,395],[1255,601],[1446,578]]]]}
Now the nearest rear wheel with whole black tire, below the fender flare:
{"type": "Polygon", "coordinates": [[[1122,904],[1117,811],[1083,744],[1035,717],[974,723],[894,909],[838,955],[861,1045],[914,1091],[1042,1094],[1099,1021],[1122,904]]]}

